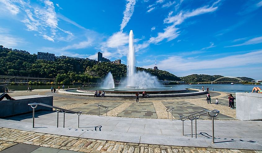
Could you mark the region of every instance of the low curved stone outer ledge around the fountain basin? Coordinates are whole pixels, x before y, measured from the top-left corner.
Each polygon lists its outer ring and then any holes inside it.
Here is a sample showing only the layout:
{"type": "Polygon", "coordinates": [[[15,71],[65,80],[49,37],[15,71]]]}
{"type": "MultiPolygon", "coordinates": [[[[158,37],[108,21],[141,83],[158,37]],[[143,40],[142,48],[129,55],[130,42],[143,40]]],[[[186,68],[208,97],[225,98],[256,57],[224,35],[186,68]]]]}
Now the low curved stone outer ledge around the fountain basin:
{"type": "MultiPolygon", "coordinates": [[[[67,95],[73,95],[73,96],[88,96],[88,97],[94,97],[94,93],[69,92],[69,90],[73,90],[73,89],[80,89],[80,88],[71,88],[71,89],[59,90],[59,93],[67,94],[67,95]]],[[[189,89],[189,90],[196,90],[196,92],[169,93],[169,94],[150,94],[150,95],[149,95],[149,98],[153,98],[153,97],[185,97],[185,96],[197,96],[197,95],[206,94],[206,90],[202,91],[202,90],[193,89],[193,88],[188,88],[188,89],[189,89]]],[[[110,94],[110,93],[105,93],[105,97],[135,98],[135,95],[131,95],[131,94],[110,94]]],[[[140,94],[139,97],[142,97],[142,94],[140,94]]]]}

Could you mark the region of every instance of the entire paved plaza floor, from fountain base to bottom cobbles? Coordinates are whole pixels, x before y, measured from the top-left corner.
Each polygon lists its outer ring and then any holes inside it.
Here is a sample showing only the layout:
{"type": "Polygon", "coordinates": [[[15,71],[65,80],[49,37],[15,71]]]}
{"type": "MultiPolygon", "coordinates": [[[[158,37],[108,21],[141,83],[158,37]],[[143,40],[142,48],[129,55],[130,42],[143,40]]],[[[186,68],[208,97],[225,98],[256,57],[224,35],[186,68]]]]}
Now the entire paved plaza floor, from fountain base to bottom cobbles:
{"type": "MultiPolygon", "coordinates": [[[[211,103],[207,104],[206,95],[189,97],[109,98],[81,97],[49,90],[33,92],[16,91],[11,97],[24,95],[54,96],[54,106],[73,111],[82,111],[78,128],[78,115],[38,111],[35,116],[35,128],[32,128],[32,113],[0,119],[0,152],[16,152],[17,148],[32,148],[19,153],[31,152],[260,152],[261,121],[238,121],[236,110],[228,107],[228,93],[210,92],[211,103]],[[215,105],[215,98],[220,105],[215,105]],[[96,105],[108,106],[105,109],[96,105]],[[166,109],[174,107],[173,121],[166,109]],[[215,118],[215,143],[212,144],[211,118],[202,116],[197,121],[197,139],[193,122],[182,121],[186,116],[198,110],[220,110],[215,118]],[[2,127],[2,128],[1,128],[2,127]],[[226,149],[220,149],[226,148],[226,149]],[[251,149],[251,150],[243,150],[251,149]]],[[[233,94],[235,97],[235,95],[233,94]]]]}

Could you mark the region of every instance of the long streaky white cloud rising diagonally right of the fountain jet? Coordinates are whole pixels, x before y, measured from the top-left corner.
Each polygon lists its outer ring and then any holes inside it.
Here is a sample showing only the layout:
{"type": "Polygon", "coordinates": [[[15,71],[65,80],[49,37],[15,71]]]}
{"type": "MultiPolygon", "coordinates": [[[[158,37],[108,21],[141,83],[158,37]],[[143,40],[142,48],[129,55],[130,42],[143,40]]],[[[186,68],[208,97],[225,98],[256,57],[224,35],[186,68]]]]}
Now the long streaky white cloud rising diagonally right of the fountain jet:
{"type": "Polygon", "coordinates": [[[204,7],[197,8],[193,11],[187,11],[187,12],[181,11],[180,13],[178,13],[175,16],[172,16],[173,11],[171,11],[168,17],[164,19],[164,23],[172,24],[172,25],[167,26],[167,28],[164,29],[164,32],[158,33],[157,37],[151,37],[149,39],[149,43],[159,43],[163,41],[164,39],[167,39],[167,41],[171,41],[177,38],[180,32],[178,31],[178,28],[175,27],[176,25],[180,25],[181,23],[184,22],[185,19],[189,17],[198,16],[204,13],[213,12],[217,10],[218,7],[214,7],[214,6],[218,2],[219,1],[214,2],[211,7],[204,6],[204,7]]]}

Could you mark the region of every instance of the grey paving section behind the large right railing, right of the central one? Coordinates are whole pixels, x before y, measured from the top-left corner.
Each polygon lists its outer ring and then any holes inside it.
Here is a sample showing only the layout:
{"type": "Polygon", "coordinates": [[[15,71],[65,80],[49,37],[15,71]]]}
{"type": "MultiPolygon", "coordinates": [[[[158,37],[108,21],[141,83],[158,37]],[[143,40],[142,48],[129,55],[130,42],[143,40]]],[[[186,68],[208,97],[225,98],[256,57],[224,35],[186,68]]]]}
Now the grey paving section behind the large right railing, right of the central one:
{"type": "MultiPolygon", "coordinates": [[[[170,101],[170,102],[163,101],[162,103],[166,106],[166,108],[174,107],[173,116],[175,117],[175,119],[179,119],[179,116],[188,116],[188,115],[193,114],[195,112],[198,112],[200,110],[206,109],[204,107],[200,107],[200,106],[197,106],[197,105],[192,104],[190,102],[182,101],[182,100],[181,101],[173,101],[173,102],[172,101],[170,101]]],[[[170,117],[171,117],[171,115],[170,115],[170,117]]],[[[210,116],[208,116],[207,114],[205,114],[205,115],[201,115],[199,119],[212,119],[212,118],[210,116]]],[[[232,120],[234,118],[223,115],[223,114],[220,113],[214,119],[230,119],[230,120],[232,120]]]]}

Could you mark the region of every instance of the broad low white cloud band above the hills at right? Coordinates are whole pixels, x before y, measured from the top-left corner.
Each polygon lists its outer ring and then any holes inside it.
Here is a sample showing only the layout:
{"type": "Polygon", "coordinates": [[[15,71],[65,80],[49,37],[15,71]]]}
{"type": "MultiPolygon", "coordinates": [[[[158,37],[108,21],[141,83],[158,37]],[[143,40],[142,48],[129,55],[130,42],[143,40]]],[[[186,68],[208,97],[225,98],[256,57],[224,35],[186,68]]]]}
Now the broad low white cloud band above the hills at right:
{"type": "MultiPolygon", "coordinates": [[[[194,60],[191,59],[190,61],[182,56],[170,56],[167,59],[164,59],[159,62],[158,68],[161,70],[167,70],[172,73],[175,72],[187,72],[191,70],[198,70],[201,73],[202,70],[206,69],[222,69],[222,68],[230,68],[236,66],[243,66],[243,65],[251,65],[251,64],[260,64],[262,61],[260,60],[262,50],[249,52],[241,55],[233,55],[233,56],[226,56],[217,59],[210,59],[210,60],[194,60]],[[185,62],[186,61],[186,62],[185,62]],[[203,67],[203,65],[208,64],[208,67],[203,67]],[[169,65],[169,66],[167,66],[169,65]],[[179,65],[179,66],[178,66],[179,65]]],[[[144,68],[153,67],[152,65],[145,65],[142,66],[144,68]]]]}

